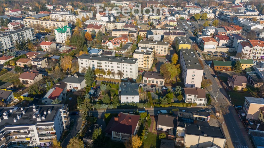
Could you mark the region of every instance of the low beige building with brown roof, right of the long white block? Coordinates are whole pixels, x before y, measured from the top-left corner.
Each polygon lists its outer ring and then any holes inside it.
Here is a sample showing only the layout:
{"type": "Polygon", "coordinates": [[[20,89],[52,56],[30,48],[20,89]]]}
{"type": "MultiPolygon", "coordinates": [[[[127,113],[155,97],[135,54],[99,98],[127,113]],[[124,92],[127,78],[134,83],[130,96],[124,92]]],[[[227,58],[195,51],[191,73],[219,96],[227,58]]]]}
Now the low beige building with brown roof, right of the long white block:
{"type": "Polygon", "coordinates": [[[147,84],[164,85],[164,77],[158,72],[146,72],[143,76],[143,82],[147,84]]]}

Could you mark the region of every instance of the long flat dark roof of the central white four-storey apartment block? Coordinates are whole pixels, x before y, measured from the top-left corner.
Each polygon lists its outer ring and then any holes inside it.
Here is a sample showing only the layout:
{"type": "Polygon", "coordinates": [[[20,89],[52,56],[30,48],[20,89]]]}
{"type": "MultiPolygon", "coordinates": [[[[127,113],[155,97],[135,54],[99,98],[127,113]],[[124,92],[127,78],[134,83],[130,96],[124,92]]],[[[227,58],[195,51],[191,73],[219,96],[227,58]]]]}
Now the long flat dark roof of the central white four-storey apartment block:
{"type": "Polygon", "coordinates": [[[104,56],[104,55],[88,55],[88,54],[83,54],[83,55],[79,56],[78,58],[79,59],[87,59],[87,60],[128,63],[128,64],[135,64],[136,61],[138,60],[136,58],[110,57],[110,56],[104,56]]]}

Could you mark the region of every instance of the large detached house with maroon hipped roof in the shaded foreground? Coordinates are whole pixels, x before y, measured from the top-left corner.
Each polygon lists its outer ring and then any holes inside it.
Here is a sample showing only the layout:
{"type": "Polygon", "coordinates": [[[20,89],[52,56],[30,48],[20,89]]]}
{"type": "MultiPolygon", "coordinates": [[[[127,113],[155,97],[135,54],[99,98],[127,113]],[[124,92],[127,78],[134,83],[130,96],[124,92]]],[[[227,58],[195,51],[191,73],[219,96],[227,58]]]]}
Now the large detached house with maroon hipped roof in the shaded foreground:
{"type": "MultiPolygon", "coordinates": [[[[136,84],[137,85],[137,84],[136,84]]],[[[129,137],[136,134],[140,116],[119,112],[117,117],[112,117],[106,126],[106,134],[112,135],[112,139],[118,138],[129,140],[129,137]]]]}

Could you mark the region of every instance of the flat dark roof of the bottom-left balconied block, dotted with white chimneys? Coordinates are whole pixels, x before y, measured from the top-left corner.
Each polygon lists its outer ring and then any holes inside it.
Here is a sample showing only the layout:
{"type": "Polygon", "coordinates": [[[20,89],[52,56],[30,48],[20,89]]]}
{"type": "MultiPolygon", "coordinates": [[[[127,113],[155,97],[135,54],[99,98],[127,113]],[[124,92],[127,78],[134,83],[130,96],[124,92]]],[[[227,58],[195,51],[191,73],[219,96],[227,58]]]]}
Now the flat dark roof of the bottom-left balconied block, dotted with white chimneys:
{"type": "MultiPolygon", "coordinates": [[[[33,114],[35,112],[33,111],[33,106],[24,107],[25,114],[22,114],[21,108],[18,107],[0,107],[0,117],[2,121],[0,122],[0,129],[3,129],[4,127],[8,126],[27,126],[27,125],[36,125],[37,123],[45,123],[45,122],[53,122],[55,116],[57,115],[57,112],[59,109],[63,109],[67,107],[67,104],[58,104],[58,105],[40,105],[36,106],[36,109],[39,110],[39,114],[42,116],[44,115],[43,111],[46,111],[47,114],[45,115],[45,119],[42,119],[41,121],[37,121],[37,119],[33,118],[33,114]],[[48,113],[48,109],[51,108],[51,114],[48,113]],[[13,113],[10,112],[10,109],[13,109],[13,113]],[[8,113],[8,119],[3,119],[4,112],[8,113]],[[14,117],[17,117],[17,115],[20,114],[21,118],[17,119],[16,122],[14,122],[14,117]]],[[[15,127],[14,127],[15,128],[15,127]]],[[[28,127],[26,127],[27,129],[28,127]]]]}

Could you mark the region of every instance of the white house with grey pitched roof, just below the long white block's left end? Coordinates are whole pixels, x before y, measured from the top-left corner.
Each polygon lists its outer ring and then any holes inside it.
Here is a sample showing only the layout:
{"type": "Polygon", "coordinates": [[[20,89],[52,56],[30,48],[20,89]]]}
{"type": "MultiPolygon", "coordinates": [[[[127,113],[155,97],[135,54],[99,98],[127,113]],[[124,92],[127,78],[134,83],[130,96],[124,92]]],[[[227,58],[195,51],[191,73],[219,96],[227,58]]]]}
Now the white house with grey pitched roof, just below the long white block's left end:
{"type": "Polygon", "coordinates": [[[67,84],[67,90],[77,91],[86,86],[84,77],[68,76],[62,80],[67,84]]]}

